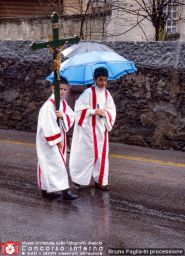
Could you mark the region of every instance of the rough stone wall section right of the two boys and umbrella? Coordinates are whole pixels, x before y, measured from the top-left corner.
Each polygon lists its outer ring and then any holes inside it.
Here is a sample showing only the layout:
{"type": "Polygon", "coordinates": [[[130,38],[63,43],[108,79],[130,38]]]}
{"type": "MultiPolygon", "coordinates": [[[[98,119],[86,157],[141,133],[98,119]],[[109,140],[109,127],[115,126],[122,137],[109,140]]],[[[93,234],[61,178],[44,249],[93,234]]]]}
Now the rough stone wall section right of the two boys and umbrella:
{"type": "Polygon", "coordinates": [[[117,103],[114,141],[185,150],[185,44],[109,44],[138,72],[110,85],[117,103]]]}

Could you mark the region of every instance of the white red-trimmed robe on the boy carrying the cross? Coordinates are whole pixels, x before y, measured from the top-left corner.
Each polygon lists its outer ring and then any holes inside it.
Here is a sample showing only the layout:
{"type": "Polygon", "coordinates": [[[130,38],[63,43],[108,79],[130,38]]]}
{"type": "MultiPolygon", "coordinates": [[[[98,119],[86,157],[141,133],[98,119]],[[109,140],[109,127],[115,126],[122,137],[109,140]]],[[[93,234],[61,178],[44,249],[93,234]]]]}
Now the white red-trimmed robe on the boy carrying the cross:
{"type": "Polygon", "coordinates": [[[55,114],[54,95],[42,106],[38,117],[36,148],[38,156],[37,179],[40,189],[56,192],[69,188],[66,169],[66,132],[74,123],[74,112],[64,99],[60,102],[60,128],[55,114]],[[59,150],[57,143],[62,143],[59,150]]]}

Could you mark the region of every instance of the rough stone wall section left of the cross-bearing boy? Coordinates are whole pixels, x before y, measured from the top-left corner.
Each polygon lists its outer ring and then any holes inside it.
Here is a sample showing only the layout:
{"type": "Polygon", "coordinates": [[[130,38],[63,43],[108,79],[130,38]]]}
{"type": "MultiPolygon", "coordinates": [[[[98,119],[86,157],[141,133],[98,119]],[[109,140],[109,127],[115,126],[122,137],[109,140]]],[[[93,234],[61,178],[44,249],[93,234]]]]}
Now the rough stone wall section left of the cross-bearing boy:
{"type": "Polygon", "coordinates": [[[0,42],[0,127],[35,131],[38,109],[49,95],[47,50],[31,52],[30,42],[0,42]]]}

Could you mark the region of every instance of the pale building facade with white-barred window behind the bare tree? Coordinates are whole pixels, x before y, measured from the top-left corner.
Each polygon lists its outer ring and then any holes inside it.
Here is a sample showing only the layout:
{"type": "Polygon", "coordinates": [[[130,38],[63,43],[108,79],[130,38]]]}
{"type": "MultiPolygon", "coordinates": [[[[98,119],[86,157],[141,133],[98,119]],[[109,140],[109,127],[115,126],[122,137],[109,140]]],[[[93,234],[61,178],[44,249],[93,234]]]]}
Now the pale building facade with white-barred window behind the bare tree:
{"type": "MultiPolygon", "coordinates": [[[[179,0],[184,3],[184,0],[179,0]]],[[[107,25],[106,35],[110,41],[154,41],[155,29],[147,16],[141,0],[116,0],[107,25]]],[[[151,1],[150,1],[151,2],[151,1]]],[[[147,3],[147,0],[145,0],[147,3]]],[[[185,6],[171,6],[166,22],[166,40],[185,41],[185,6]]]]}

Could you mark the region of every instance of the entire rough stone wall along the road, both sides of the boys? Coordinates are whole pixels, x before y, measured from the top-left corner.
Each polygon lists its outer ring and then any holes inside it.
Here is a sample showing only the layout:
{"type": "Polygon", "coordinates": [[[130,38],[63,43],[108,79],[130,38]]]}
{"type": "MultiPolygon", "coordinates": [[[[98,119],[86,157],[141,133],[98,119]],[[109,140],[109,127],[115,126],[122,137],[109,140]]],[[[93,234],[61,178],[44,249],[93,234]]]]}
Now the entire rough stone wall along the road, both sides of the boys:
{"type": "MultiPolygon", "coordinates": [[[[50,94],[47,50],[30,42],[0,42],[0,128],[35,131],[40,106],[50,94]]],[[[136,62],[138,72],[109,83],[117,106],[111,140],[185,150],[185,44],[107,43],[136,62]]]]}

